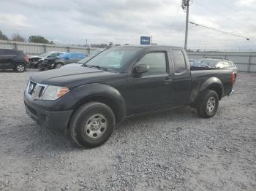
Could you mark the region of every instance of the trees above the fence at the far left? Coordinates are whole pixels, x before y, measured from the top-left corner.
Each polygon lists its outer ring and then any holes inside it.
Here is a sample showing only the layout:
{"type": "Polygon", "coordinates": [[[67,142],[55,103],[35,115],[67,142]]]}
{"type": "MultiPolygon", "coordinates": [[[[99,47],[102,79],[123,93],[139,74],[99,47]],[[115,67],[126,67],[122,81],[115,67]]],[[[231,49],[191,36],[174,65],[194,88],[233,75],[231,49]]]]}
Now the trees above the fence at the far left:
{"type": "MultiPolygon", "coordinates": [[[[0,31],[0,40],[12,40],[17,42],[25,42],[26,39],[21,36],[20,34],[12,34],[11,38],[9,38],[7,35],[3,34],[2,31],[0,31]]],[[[45,39],[45,37],[40,35],[31,35],[28,39],[29,42],[34,43],[43,43],[43,44],[54,44],[53,41],[48,41],[48,39],[45,39]]]]}

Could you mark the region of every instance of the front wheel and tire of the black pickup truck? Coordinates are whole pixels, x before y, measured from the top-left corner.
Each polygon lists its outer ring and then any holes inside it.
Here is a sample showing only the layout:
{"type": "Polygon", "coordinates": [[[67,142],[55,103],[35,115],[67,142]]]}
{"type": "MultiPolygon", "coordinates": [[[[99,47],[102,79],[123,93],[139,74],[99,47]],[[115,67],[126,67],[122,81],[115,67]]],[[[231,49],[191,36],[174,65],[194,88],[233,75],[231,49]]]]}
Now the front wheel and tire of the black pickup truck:
{"type": "Polygon", "coordinates": [[[109,106],[99,102],[89,102],[80,106],[69,123],[69,133],[80,147],[98,147],[113,133],[116,118],[109,106]]]}

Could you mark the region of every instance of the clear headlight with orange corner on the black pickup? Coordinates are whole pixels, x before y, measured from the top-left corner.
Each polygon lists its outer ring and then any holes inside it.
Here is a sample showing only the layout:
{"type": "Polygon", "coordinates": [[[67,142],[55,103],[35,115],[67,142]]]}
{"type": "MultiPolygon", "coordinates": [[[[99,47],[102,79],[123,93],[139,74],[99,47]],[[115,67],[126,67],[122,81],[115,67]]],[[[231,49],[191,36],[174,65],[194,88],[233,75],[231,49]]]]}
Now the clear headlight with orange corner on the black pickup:
{"type": "Polygon", "coordinates": [[[48,85],[42,94],[42,100],[56,100],[69,92],[67,87],[48,85]]]}

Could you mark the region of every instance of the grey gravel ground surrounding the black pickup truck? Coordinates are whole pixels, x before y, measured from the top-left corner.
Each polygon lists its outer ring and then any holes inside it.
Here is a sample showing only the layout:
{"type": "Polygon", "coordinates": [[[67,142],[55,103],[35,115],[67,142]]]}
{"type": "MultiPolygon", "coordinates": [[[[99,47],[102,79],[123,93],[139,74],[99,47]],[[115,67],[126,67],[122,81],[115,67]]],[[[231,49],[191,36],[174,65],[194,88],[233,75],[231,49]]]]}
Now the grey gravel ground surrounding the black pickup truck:
{"type": "Polygon", "coordinates": [[[0,71],[0,190],[256,190],[256,74],[239,74],[211,119],[189,107],[137,117],[78,149],[27,116],[36,72],[0,71]]]}

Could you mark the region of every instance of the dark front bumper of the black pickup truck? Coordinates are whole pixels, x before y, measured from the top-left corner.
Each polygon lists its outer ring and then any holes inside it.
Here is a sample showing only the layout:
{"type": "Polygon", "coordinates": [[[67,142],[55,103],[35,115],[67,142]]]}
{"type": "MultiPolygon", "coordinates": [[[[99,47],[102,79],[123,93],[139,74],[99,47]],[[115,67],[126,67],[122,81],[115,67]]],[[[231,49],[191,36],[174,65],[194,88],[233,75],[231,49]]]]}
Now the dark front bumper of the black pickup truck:
{"type": "Polygon", "coordinates": [[[42,109],[42,106],[32,104],[31,101],[29,101],[29,98],[26,98],[26,95],[24,96],[24,104],[26,106],[26,113],[39,125],[48,126],[58,130],[67,129],[72,110],[58,112],[48,111],[42,109]]]}

